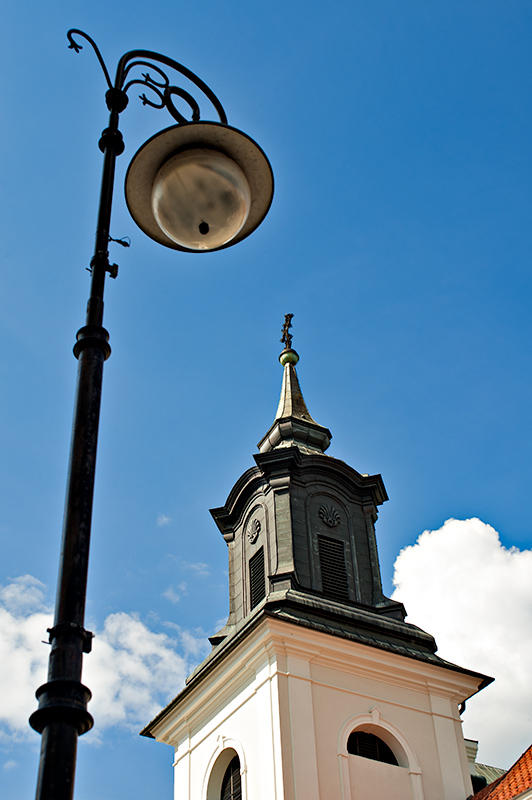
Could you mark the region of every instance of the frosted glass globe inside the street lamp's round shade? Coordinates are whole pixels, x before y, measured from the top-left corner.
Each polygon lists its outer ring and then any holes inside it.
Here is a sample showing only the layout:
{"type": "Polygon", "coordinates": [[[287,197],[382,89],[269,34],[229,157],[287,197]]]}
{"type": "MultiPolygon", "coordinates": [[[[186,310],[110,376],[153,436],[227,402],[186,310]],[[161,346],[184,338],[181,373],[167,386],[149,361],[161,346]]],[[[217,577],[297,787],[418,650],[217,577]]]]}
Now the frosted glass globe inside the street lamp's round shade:
{"type": "Polygon", "coordinates": [[[242,230],[251,207],[243,170],[232,158],[208,148],[190,148],[158,170],[152,209],[161,230],[190,250],[213,250],[242,230]]]}

